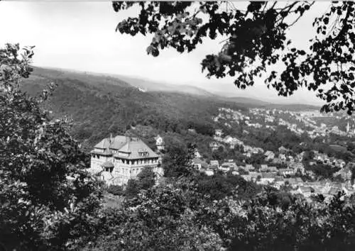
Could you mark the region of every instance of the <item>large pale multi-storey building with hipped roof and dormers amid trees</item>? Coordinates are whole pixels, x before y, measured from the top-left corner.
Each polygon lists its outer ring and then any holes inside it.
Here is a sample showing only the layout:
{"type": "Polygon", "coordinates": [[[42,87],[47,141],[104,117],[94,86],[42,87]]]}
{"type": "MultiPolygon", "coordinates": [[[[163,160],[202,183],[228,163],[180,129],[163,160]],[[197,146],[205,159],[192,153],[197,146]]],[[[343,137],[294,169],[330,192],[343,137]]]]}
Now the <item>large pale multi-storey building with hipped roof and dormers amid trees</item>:
{"type": "Polygon", "coordinates": [[[160,156],[138,138],[118,135],[104,138],[91,152],[89,172],[99,174],[107,184],[124,185],[136,179],[144,167],[163,176],[160,156]]]}

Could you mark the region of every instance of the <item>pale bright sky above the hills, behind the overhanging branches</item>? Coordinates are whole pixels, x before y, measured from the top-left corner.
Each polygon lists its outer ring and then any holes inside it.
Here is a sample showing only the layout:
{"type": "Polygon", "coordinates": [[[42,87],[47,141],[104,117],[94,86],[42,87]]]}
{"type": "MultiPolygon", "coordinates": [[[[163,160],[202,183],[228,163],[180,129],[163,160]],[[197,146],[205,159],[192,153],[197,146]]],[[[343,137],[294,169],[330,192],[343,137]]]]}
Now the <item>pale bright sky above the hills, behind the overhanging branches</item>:
{"type": "MultiPolygon", "coordinates": [[[[245,3],[244,3],[245,4],[245,3]]],[[[304,18],[290,29],[295,45],[307,48],[315,34],[312,21],[327,10],[329,3],[317,2],[304,18]]],[[[116,33],[119,21],[136,16],[138,9],[114,12],[111,2],[0,1],[0,45],[35,45],[33,65],[75,69],[85,72],[121,74],[170,84],[189,84],[214,93],[245,96],[274,103],[322,104],[315,93],[302,89],[291,97],[279,97],[262,80],[246,90],[237,89],[233,79],[207,79],[202,59],[218,53],[219,40],[204,40],[190,53],[173,49],[147,55],[151,36],[116,33]]]]}

